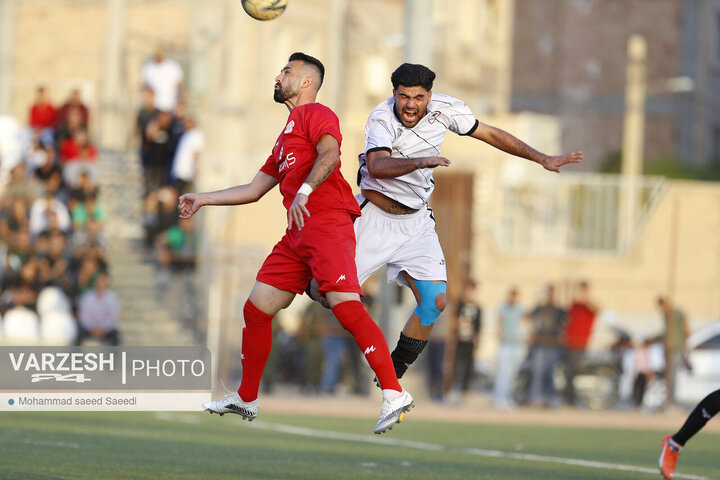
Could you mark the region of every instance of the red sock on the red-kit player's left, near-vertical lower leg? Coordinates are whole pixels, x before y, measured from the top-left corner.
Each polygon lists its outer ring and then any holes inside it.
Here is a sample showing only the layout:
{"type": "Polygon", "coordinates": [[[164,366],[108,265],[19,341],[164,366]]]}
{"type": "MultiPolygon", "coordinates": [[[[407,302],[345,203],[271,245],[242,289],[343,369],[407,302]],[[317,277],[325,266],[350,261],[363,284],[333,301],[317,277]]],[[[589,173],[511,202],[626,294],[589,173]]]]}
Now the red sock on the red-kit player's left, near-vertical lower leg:
{"type": "Polygon", "coordinates": [[[260,390],[260,379],[272,347],[272,315],[261,311],[248,300],[243,308],[245,328],[242,339],[243,377],[238,395],[252,402],[260,390]]]}

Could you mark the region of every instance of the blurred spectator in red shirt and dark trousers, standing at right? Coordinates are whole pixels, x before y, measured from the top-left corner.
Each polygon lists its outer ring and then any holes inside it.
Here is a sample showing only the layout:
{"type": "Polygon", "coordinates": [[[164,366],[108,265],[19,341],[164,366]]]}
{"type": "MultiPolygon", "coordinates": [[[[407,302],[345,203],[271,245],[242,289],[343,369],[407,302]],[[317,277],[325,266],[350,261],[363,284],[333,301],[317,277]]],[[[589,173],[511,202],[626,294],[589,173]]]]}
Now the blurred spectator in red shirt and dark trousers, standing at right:
{"type": "Polygon", "coordinates": [[[590,300],[589,290],[587,282],[578,284],[565,327],[565,401],[571,406],[575,405],[577,400],[574,381],[578,364],[587,349],[598,310],[590,300]]]}

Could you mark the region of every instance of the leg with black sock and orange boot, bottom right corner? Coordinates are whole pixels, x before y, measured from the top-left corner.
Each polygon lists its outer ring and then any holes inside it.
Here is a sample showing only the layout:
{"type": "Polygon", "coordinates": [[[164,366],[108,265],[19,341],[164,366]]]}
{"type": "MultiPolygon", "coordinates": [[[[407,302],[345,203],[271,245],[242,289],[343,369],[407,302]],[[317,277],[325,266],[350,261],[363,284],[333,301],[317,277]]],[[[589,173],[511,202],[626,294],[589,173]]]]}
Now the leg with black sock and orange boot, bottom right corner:
{"type": "Polygon", "coordinates": [[[672,480],[678,455],[685,442],[699,432],[720,411],[720,390],[715,390],[697,404],[687,420],[674,435],[666,435],[660,450],[659,467],[662,475],[672,480]]]}

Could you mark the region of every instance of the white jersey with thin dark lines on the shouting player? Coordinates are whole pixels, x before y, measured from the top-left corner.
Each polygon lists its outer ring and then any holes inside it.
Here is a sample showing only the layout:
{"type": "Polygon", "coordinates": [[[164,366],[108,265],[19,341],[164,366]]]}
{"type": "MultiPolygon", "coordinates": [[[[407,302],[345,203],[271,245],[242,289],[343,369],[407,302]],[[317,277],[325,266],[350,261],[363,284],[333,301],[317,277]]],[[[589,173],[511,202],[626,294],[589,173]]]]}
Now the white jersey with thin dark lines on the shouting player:
{"type": "Polygon", "coordinates": [[[388,98],[370,114],[365,124],[365,153],[360,155],[358,186],[375,190],[403,205],[419,209],[427,204],[435,188],[432,168],[413,170],[395,178],[371,178],[365,154],[386,150],[394,158],[440,155],[445,132],[470,135],[478,126],[475,115],[462,100],[434,93],[427,114],[413,128],[406,128],[395,115],[395,100],[388,98]]]}

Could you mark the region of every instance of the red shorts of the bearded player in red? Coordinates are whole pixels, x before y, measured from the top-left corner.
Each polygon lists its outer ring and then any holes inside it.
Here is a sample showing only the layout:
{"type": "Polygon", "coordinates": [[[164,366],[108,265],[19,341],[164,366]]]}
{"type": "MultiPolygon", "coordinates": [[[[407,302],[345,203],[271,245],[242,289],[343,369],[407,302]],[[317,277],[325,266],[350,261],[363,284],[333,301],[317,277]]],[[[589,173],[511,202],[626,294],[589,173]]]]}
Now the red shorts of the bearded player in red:
{"type": "Polygon", "coordinates": [[[302,294],[315,278],[320,292],[362,295],[355,266],[355,230],[344,210],[305,217],[305,226],[291,231],[275,245],[257,274],[257,281],[302,294]]]}

